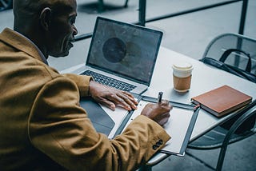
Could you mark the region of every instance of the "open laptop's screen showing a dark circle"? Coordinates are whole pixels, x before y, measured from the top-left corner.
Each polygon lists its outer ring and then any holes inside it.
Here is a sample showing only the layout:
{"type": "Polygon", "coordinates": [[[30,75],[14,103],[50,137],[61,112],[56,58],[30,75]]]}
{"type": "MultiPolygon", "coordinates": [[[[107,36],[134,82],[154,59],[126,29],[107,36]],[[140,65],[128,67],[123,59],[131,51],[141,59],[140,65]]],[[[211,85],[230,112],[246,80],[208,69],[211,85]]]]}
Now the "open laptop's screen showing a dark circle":
{"type": "Polygon", "coordinates": [[[162,32],[98,17],[86,65],[150,85],[162,32]]]}

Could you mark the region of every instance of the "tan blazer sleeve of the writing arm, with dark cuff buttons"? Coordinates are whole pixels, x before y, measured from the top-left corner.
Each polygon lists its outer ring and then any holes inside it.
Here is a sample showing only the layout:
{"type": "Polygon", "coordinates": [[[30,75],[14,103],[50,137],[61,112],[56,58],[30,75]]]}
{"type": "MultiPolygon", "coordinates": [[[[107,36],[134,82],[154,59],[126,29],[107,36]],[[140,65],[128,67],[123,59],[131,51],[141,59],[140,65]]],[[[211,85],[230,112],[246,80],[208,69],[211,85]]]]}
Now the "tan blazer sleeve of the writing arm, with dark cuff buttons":
{"type": "Polygon", "coordinates": [[[109,140],[97,133],[79,106],[78,86],[65,77],[42,87],[29,118],[31,143],[69,170],[134,170],[165,145],[169,135],[139,116],[109,140]]]}

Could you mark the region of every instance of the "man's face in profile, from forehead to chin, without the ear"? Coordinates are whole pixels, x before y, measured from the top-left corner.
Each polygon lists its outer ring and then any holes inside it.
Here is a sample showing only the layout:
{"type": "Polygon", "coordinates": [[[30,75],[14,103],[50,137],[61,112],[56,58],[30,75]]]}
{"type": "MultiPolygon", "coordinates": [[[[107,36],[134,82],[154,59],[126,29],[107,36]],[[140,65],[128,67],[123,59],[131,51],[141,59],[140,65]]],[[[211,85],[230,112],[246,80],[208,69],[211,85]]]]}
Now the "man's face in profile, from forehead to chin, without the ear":
{"type": "Polygon", "coordinates": [[[74,35],[78,34],[74,26],[77,16],[75,0],[62,0],[52,9],[47,49],[54,57],[63,57],[69,54],[73,47],[74,35]]]}

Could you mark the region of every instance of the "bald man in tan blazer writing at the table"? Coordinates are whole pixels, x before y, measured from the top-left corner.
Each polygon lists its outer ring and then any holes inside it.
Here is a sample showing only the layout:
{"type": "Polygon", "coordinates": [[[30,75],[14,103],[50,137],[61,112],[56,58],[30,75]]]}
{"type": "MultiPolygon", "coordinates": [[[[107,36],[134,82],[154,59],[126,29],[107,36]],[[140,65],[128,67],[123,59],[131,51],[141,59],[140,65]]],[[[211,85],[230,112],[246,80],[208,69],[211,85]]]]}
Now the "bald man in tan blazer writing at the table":
{"type": "Polygon", "coordinates": [[[75,0],[14,0],[14,30],[0,34],[0,170],[134,170],[170,139],[162,128],[168,101],[146,105],[126,130],[109,140],[79,106],[91,96],[136,109],[130,93],[88,76],[58,74],[49,55],[73,46],[75,0]]]}

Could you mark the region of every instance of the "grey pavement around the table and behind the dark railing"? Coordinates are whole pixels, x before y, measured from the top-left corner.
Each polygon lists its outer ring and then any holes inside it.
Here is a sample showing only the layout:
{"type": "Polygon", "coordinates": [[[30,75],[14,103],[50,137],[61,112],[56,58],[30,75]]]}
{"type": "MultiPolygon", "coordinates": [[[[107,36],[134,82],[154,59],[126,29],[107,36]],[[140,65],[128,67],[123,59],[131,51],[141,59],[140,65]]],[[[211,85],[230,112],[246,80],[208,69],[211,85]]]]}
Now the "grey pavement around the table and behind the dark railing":
{"type": "MultiPolygon", "coordinates": [[[[107,9],[98,13],[97,8],[92,10],[96,0],[77,0],[78,18],[76,26],[78,34],[90,33],[94,29],[97,16],[113,18],[123,22],[138,22],[138,1],[130,0],[127,8],[122,8],[125,1],[106,0],[107,9]]],[[[227,1],[227,0],[226,0],[227,1]]],[[[222,0],[161,0],[146,1],[146,18],[155,18],[164,14],[192,9],[198,6],[206,6],[222,0]]],[[[97,7],[97,6],[96,6],[97,7]]],[[[226,32],[238,33],[242,2],[235,2],[226,6],[215,7],[210,10],[202,10],[191,14],[184,14],[174,18],[162,19],[157,22],[146,23],[147,27],[162,30],[162,46],[191,58],[202,58],[206,45],[218,34],[226,32]]],[[[244,34],[256,38],[256,0],[249,0],[244,34]]],[[[0,30],[5,27],[13,27],[12,10],[0,12],[0,30]]],[[[90,38],[74,43],[70,50],[70,58],[49,58],[50,66],[57,70],[65,70],[70,66],[85,62],[90,38]],[[72,58],[71,58],[72,57],[72,58]]],[[[230,145],[222,170],[253,171],[256,168],[256,136],[247,138],[234,145],[230,145]]],[[[198,157],[171,156],[153,170],[182,170],[198,171],[211,170],[207,165],[215,166],[218,158],[218,149],[208,151],[187,150],[198,157]],[[207,165],[201,162],[205,161],[207,165]]]]}

